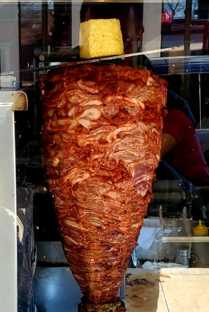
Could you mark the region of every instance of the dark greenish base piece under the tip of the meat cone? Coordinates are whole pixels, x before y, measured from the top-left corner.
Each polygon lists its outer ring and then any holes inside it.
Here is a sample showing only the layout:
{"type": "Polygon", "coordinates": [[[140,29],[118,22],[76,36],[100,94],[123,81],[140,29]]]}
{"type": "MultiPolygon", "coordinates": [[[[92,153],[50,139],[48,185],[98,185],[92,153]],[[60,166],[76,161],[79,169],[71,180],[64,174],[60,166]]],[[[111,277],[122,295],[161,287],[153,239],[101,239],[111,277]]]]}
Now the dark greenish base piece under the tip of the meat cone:
{"type": "Polygon", "coordinates": [[[115,297],[109,303],[92,303],[87,298],[82,297],[81,303],[78,305],[78,312],[125,312],[123,301],[120,297],[115,297]]]}

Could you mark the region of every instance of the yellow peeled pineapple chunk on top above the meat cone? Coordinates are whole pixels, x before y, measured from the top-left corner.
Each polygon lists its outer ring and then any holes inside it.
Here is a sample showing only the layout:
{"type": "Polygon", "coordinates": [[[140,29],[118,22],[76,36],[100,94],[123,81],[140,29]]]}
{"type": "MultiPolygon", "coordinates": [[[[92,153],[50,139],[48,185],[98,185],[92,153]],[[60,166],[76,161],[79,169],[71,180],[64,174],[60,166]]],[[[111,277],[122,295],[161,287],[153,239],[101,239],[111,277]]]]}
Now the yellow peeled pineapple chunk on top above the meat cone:
{"type": "Polygon", "coordinates": [[[79,45],[80,57],[85,59],[124,54],[119,19],[90,19],[81,23],[79,45]]]}

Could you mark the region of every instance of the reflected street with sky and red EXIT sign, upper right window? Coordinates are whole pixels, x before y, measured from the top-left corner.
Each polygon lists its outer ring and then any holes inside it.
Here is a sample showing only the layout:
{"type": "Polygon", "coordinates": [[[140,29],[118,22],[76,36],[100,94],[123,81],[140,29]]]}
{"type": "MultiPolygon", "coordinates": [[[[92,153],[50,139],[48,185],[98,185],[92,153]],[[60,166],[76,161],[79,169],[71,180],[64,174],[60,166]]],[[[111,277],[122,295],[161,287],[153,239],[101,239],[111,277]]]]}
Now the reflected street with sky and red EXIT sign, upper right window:
{"type": "MultiPolygon", "coordinates": [[[[208,54],[208,12],[209,4],[202,0],[192,0],[190,23],[191,55],[208,54]]],[[[162,6],[162,47],[177,46],[176,55],[184,55],[186,0],[173,2],[164,0],[162,6]],[[167,18],[166,18],[167,14],[167,18]],[[168,18],[168,14],[172,14],[168,18]]]]}

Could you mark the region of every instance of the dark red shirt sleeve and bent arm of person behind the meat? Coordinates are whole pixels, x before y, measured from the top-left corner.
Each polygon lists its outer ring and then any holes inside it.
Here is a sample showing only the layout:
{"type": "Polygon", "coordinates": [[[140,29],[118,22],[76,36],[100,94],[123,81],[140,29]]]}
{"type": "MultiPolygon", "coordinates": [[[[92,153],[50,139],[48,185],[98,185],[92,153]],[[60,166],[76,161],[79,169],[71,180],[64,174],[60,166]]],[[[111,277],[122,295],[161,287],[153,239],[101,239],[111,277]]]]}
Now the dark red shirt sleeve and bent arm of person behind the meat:
{"type": "Polygon", "coordinates": [[[192,121],[180,109],[163,119],[161,158],[196,186],[209,185],[209,170],[192,121]]]}

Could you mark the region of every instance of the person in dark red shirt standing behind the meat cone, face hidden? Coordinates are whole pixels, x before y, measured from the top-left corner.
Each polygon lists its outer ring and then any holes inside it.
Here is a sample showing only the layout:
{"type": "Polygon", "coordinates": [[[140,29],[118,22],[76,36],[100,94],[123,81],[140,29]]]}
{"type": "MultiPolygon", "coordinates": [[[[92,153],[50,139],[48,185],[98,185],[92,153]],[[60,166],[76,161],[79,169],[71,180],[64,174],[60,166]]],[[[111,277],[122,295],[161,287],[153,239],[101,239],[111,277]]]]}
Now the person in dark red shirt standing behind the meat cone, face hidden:
{"type": "MultiPolygon", "coordinates": [[[[140,50],[144,32],[142,4],[126,3],[122,7],[119,3],[82,4],[80,21],[85,22],[91,18],[119,18],[125,53],[140,50]]],[[[136,63],[138,68],[150,69],[157,74],[146,56],[138,56],[137,60],[129,57],[119,61],[119,65],[133,66],[133,63],[136,63]]],[[[156,178],[159,180],[186,178],[196,186],[209,185],[209,172],[195,131],[195,120],[186,101],[168,90],[167,108],[169,112],[164,118],[161,145],[163,160],[159,162],[156,178]]]]}

